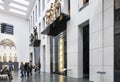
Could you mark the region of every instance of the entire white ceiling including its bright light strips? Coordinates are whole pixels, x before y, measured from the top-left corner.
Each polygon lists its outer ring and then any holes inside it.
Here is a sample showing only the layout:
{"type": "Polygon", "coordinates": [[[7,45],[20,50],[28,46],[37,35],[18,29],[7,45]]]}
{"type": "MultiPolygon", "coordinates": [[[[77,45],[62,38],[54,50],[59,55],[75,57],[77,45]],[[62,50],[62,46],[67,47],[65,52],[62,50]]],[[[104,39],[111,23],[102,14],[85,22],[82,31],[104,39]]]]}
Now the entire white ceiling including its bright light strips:
{"type": "Polygon", "coordinates": [[[0,12],[28,19],[35,0],[0,0],[0,12]]]}

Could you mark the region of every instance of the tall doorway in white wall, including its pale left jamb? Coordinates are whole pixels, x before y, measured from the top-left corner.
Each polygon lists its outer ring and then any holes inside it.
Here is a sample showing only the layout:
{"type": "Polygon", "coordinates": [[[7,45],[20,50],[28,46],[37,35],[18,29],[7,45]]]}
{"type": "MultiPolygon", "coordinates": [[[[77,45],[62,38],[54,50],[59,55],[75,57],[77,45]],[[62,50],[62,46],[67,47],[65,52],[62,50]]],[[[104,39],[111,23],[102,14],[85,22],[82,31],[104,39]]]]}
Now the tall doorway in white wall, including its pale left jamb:
{"type": "Polygon", "coordinates": [[[78,29],[78,75],[89,80],[89,20],[78,29]]]}

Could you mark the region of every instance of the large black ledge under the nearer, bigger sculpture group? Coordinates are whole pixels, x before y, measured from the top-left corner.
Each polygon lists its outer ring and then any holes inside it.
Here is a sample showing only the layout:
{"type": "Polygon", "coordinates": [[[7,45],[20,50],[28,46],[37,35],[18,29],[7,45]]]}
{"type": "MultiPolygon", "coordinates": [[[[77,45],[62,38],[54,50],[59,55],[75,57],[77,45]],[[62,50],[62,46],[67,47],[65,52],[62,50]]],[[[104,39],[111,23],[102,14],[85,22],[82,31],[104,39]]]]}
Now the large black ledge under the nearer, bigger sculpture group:
{"type": "Polygon", "coordinates": [[[45,35],[56,36],[62,31],[66,30],[66,23],[69,19],[69,15],[61,13],[60,16],[57,17],[56,20],[54,20],[53,23],[46,27],[46,29],[41,33],[45,35]]]}

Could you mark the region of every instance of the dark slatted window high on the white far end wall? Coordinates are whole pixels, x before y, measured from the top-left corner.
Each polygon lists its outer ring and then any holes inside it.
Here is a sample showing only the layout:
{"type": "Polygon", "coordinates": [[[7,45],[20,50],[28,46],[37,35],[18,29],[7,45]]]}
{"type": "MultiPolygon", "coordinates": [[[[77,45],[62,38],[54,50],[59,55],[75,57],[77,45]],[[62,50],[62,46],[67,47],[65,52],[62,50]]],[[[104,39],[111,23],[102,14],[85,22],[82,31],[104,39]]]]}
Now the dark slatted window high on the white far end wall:
{"type": "Polygon", "coordinates": [[[14,34],[13,25],[2,23],[1,24],[1,33],[13,35],[14,34]]]}

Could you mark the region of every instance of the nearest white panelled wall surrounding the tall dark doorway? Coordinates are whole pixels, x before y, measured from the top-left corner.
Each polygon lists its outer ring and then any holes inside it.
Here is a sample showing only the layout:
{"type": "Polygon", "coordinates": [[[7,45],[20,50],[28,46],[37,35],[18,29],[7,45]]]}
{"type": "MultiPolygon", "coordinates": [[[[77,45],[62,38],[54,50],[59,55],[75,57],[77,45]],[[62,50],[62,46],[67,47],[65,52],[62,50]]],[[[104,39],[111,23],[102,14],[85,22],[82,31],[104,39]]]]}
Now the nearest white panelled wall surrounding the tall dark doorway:
{"type": "Polygon", "coordinates": [[[67,66],[71,69],[68,76],[82,78],[82,31],[79,25],[89,20],[90,80],[114,82],[113,4],[113,0],[90,0],[89,5],[79,11],[78,0],[71,0],[71,19],[67,23],[67,66]],[[101,78],[98,71],[106,74],[101,78]]]}

